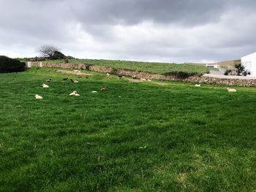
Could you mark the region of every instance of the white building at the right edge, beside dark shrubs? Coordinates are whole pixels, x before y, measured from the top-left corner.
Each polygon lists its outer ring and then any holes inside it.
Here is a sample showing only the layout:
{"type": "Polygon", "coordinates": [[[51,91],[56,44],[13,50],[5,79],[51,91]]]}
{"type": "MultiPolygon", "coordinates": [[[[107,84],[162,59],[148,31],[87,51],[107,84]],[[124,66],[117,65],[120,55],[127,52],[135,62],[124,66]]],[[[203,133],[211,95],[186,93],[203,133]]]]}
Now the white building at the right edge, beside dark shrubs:
{"type": "Polygon", "coordinates": [[[250,72],[250,76],[256,77],[256,52],[242,57],[241,64],[250,72]]]}

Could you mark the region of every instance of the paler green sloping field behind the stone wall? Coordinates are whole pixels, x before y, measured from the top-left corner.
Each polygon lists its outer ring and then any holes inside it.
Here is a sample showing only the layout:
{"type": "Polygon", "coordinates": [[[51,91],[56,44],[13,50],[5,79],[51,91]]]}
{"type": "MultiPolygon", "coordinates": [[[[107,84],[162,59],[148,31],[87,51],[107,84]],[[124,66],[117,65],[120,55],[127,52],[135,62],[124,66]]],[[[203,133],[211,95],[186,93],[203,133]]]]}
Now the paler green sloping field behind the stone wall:
{"type": "MultiPolygon", "coordinates": [[[[51,63],[62,63],[63,60],[45,61],[51,63]]],[[[95,66],[107,66],[113,69],[129,69],[140,72],[151,72],[155,74],[165,74],[168,72],[190,72],[196,74],[205,74],[209,69],[206,66],[195,64],[169,64],[169,63],[150,63],[138,61],[113,61],[113,60],[97,60],[97,59],[69,59],[69,63],[75,64],[91,64],[95,66]]]]}

